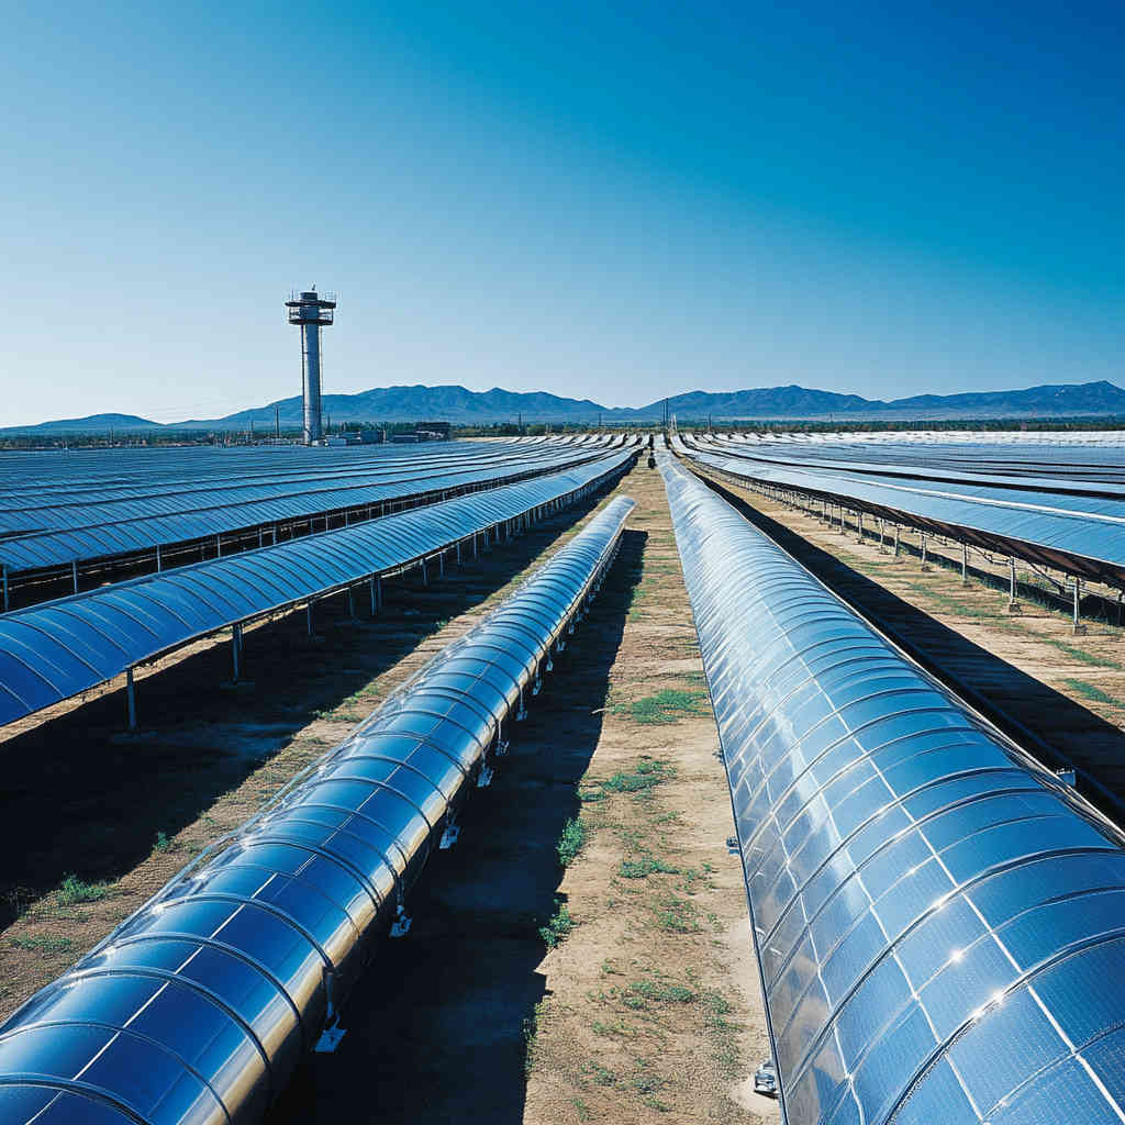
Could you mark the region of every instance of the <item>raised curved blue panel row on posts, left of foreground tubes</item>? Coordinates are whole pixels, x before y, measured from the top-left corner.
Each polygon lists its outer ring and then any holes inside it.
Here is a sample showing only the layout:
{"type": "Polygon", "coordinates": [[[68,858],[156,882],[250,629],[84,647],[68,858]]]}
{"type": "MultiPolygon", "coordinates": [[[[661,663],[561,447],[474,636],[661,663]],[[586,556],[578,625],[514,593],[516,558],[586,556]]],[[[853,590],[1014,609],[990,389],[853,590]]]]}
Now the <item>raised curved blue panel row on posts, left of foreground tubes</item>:
{"type": "Polygon", "coordinates": [[[277,547],[179,567],[0,616],[0,724],[187,641],[394,570],[546,504],[587,495],[631,462],[578,468],[277,547]]]}

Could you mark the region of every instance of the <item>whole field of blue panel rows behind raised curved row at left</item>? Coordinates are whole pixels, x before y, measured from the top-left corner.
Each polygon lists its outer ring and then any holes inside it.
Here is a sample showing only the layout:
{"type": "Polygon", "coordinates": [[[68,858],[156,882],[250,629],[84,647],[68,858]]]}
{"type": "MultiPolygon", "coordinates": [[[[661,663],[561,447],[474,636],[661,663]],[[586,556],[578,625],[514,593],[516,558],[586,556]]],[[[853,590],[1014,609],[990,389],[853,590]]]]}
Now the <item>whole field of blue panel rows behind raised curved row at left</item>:
{"type": "MultiPolygon", "coordinates": [[[[313,520],[381,514],[388,506],[441,498],[548,472],[597,456],[588,448],[515,442],[305,450],[108,450],[16,453],[0,459],[0,567],[15,587],[29,572],[70,570],[72,588],[91,562],[135,560],[158,569],[208,552],[261,546],[313,530],[313,520]],[[190,549],[184,544],[195,544],[190,549]]],[[[98,568],[99,580],[104,580],[98,568]]],[[[29,579],[30,580],[30,579],[29,579]]],[[[53,591],[47,587],[47,595],[53,591]]],[[[22,601],[39,600],[34,593],[22,601]]]]}

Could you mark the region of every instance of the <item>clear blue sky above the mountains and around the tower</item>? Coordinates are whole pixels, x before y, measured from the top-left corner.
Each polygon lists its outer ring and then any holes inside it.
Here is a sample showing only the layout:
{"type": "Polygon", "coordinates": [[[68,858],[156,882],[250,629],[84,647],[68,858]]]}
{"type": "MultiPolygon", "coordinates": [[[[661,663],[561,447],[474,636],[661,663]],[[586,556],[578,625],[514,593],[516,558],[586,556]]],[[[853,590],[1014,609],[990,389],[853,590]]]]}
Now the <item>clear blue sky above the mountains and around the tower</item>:
{"type": "Polygon", "coordinates": [[[0,16],[0,425],[1125,382],[1119,3],[0,16]]]}

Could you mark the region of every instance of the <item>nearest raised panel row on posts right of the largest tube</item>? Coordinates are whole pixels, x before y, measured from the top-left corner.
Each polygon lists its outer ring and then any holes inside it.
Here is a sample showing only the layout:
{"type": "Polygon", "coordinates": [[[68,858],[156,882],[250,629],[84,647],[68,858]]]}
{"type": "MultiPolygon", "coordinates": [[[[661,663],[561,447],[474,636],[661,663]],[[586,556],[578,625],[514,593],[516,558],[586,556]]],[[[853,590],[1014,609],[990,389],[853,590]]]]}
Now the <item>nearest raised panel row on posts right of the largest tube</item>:
{"type": "Polygon", "coordinates": [[[908,485],[891,478],[763,465],[674,439],[677,452],[740,483],[774,485],[964,540],[984,550],[1125,587],[1125,502],[1002,489],[908,485]]]}

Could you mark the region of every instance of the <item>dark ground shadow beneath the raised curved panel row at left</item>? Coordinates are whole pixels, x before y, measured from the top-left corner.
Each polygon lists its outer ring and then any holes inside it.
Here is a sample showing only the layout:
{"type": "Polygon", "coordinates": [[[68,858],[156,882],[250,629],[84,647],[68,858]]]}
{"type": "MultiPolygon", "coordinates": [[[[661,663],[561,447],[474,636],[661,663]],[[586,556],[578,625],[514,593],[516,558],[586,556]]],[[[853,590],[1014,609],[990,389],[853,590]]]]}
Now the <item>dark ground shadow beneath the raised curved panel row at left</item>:
{"type": "MultiPolygon", "coordinates": [[[[141,735],[125,734],[124,691],[92,700],[0,745],[0,928],[70,873],[112,881],[339,708],[444,622],[479,604],[590,512],[588,500],[544,520],[446,579],[384,583],[376,620],[354,622],[345,598],[248,631],[252,690],[220,691],[230,645],[197,652],[137,683],[141,735]]],[[[367,616],[362,598],[357,609],[367,616]]],[[[369,705],[367,706],[369,710],[369,705]]],[[[363,714],[357,709],[353,718],[363,714]]],[[[324,749],[328,746],[325,745],[324,749]]]]}

